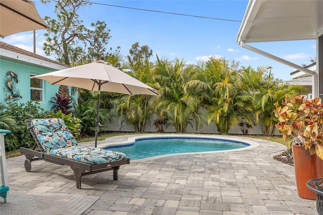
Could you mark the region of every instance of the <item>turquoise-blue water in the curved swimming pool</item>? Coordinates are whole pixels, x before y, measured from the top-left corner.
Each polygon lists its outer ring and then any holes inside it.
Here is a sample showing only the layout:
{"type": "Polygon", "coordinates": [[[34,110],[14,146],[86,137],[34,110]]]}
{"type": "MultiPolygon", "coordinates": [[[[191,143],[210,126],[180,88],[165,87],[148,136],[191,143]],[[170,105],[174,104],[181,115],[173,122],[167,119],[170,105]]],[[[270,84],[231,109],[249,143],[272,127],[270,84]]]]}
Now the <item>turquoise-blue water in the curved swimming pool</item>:
{"type": "Polygon", "coordinates": [[[247,143],[214,138],[154,137],[137,139],[126,146],[110,146],[106,149],[123,152],[130,159],[136,160],[164,154],[220,151],[247,146],[247,143]]]}

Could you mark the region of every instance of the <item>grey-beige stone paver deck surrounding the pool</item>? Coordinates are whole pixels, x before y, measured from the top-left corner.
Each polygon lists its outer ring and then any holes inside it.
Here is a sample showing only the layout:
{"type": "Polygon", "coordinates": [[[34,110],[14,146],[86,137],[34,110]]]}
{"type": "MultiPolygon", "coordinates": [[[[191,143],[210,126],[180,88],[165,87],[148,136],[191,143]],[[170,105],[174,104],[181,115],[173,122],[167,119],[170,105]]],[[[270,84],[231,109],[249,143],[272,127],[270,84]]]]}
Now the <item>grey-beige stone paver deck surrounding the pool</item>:
{"type": "MultiPolygon", "coordinates": [[[[140,135],[107,138],[98,147],[132,136],[140,135]]],[[[69,166],[36,160],[28,173],[24,155],[8,158],[9,201],[0,197],[0,214],[317,214],[316,202],[297,194],[294,167],[272,158],[284,145],[236,139],[259,146],[131,160],[118,181],[112,171],[88,175],[81,190],[69,166]]]]}

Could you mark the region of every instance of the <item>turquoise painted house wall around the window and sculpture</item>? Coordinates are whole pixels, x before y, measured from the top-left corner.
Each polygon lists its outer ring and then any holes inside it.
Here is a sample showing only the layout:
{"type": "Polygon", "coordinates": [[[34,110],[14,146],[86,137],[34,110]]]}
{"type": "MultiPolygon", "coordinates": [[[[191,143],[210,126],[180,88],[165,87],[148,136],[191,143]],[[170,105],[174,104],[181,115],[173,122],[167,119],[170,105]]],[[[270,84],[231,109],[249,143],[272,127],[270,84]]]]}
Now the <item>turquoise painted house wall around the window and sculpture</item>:
{"type": "MultiPolygon", "coordinates": [[[[28,64],[25,62],[12,61],[10,59],[0,59],[0,102],[14,102],[14,99],[8,99],[6,97],[11,94],[7,87],[7,73],[9,71],[14,72],[18,75],[18,83],[15,83],[16,90],[22,96],[18,98],[16,102],[26,103],[30,100],[30,75],[40,75],[57,69],[51,69],[48,67],[41,67],[39,65],[28,64]]],[[[11,76],[8,76],[10,78],[11,76]]],[[[56,96],[55,93],[58,93],[60,85],[51,85],[46,81],[43,81],[43,102],[40,102],[41,108],[50,111],[52,103],[49,101],[52,100],[52,97],[56,96]]],[[[69,87],[71,92],[71,87],[69,87]]],[[[14,92],[15,93],[15,92],[14,92]]],[[[75,97],[74,97],[75,98],[75,97]]]]}

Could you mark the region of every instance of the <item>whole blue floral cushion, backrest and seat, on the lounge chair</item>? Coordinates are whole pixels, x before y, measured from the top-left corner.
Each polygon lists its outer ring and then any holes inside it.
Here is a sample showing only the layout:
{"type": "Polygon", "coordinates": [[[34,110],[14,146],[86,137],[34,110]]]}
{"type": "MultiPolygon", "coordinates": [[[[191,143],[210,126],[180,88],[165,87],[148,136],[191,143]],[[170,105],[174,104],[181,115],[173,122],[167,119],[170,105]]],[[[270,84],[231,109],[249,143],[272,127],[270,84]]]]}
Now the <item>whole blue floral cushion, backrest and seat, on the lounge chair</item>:
{"type": "Polygon", "coordinates": [[[86,164],[102,164],[121,160],[124,153],[77,145],[62,119],[33,119],[31,126],[46,153],[86,164]]]}

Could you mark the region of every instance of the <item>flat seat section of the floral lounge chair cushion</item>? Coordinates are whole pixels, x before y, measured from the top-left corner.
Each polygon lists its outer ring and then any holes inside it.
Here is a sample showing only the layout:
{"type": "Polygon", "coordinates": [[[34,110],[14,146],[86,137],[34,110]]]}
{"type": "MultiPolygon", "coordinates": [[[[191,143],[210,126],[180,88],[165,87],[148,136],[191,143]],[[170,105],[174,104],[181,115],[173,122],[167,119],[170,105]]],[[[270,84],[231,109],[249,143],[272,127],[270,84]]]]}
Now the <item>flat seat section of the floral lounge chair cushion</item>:
{"type": "Polygon", "coordinates": [[[49,151],[49,154],[77,160],[86,164],[103,164],[122,160],[126,155],[122,152],[110,151],[102,148],[71,146],[49,151]]]}

